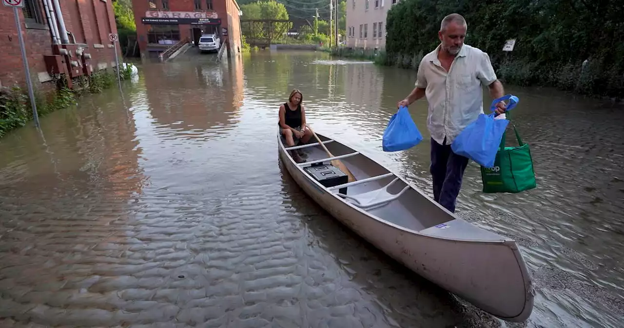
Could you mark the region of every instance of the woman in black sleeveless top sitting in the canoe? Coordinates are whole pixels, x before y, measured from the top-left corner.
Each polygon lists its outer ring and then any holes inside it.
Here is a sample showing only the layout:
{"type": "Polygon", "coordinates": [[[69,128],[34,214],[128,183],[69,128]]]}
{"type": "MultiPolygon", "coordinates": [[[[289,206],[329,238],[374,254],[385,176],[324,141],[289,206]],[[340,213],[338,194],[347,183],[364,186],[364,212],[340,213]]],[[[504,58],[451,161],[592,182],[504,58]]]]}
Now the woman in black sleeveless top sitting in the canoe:
{"type": "MultiPolygon", "coordinates": [[[[295,146],[295,139],[300,139],[300,144],[306,144],[312,137],[312,132],[306,127],[306,112],[301,104],[303,102],[303,95],[301,91],[294,89],[290,92],[288,101],[280,106],[280,121],[278,125],[281,129],[281,134],[286,139],[286,146],[295,146]]],[[[305,159],[300,157],[302,153],[298,151],[291,151],[291,156],[295,162],[303,163],[305,159]]]]}

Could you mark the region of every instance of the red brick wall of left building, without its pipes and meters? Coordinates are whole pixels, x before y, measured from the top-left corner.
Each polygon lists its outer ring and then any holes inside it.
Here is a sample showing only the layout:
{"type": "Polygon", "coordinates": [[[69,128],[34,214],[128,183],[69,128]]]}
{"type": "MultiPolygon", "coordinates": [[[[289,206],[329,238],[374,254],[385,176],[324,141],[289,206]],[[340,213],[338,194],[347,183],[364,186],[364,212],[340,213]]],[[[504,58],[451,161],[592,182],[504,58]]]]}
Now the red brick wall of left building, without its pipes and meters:
{"type": "MultiPolygon", "coordinates": [[[[38,24],[37,28],[26,28],[27,24],[23,12],[21,9],[18,12],[33,86],[35,89],[47,91],[54,86],[51,86],[50,82],[41,82],[39,73],[47,72],[43,56],[52,54],[52,36],[43,2],[41,0],[33,1],[37,2],[42,16],[42,24],[38,24]]],[[[106,62],[107,66],[110,67],[111,62],[115,62],[115,54],[112,48],[107,47],[107,44],[110,44],[108,34],[110,32],[117,33],[110,0],[107,2],[101,0],[61,0],[60,4],[67,31],[74,34],[77,43],[86,44],[85,53],[91,54],[90,62],[94,71],[98,70],[97,64],[100,62],[106,62]],[[94,47],[95,44],[102,43],[104,43],[104,48],[94,47]]],[[[0,6],[0,19],[0,49],[5,55],[0,61],[0,83],[2,86],[20,84],[26,89],[24,66],[12,9],[0,6]]],[[[32,27],[32,24],[29,24],[29,27],[32,27]]],[[[71,37],[69,41],[72,42],[71,37]]],[[[120,56],[119,47],[117,49],[120,56]]],[[[43,75],[45,76],[45,74],[43,75]]]]}

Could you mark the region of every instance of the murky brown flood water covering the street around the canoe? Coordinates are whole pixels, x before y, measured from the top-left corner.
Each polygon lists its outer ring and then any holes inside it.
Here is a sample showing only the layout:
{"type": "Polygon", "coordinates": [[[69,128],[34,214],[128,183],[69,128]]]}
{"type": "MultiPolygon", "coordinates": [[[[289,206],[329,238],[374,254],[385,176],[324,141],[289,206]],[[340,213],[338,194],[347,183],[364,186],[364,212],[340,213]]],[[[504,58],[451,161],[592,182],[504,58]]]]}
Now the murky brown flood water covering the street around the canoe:
{"type": "Polygon", "coordinates": [[[538,187],[483,194],[471,162],[457,214],[522,247],[535,309],[509,324],[376,251],[278,161],[277,110],[298,88],[316,131],[431,194],[425,101],[410,108],[424,142],[381,149],[416,72],[322,52],[213,59],[145,64],[123,97],[0,139],[1,327],[624,326],[622,107],[506,86],[538,187]]]}

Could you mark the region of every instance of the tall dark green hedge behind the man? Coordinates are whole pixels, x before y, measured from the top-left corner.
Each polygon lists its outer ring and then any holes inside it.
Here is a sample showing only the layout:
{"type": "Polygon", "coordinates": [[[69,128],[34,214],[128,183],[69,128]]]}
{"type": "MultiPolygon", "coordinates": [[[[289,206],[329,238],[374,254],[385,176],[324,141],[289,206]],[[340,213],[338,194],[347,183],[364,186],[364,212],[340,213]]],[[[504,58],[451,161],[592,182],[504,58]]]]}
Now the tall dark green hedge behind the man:
{"type": "Polygon", "coordinates": [[[624,21],[616,0],[405,0],[388,11],[381,62],[417,69],[438,44],[442,18],[462,14],[466,44],[487,52],[501,79],[622,97],[624,21]],[[507,39],[514,51],[504,52],[507,39]]]}

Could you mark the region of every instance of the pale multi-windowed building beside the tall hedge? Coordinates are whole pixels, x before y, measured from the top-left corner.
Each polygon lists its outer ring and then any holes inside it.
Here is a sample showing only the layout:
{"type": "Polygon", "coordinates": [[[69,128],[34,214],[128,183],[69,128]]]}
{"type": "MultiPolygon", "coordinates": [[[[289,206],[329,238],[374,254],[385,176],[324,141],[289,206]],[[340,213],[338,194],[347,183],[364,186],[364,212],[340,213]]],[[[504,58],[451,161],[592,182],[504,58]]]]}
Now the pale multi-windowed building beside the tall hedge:
{"type": "Polygon", "coordinates": [[[347,46],[384,49],[386,17],[399,0],[347,0],[347,46]]]}

